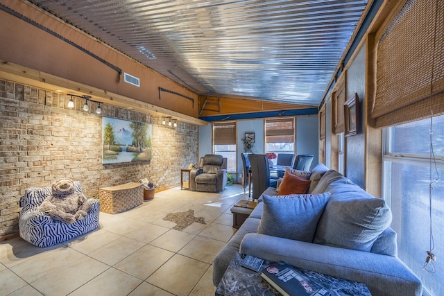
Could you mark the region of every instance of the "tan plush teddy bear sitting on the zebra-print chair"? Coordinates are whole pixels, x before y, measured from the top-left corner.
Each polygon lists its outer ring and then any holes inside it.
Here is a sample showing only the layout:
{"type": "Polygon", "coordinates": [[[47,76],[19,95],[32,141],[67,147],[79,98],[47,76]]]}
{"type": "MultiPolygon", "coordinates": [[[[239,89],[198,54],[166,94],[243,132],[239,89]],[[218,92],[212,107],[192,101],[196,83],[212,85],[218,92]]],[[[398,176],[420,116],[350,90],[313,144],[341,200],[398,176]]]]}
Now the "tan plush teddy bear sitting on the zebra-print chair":
{"type": "Polygon", "coordinates": [[[83,193],[75,192],[74,181],[69,178],[58,179],[53,182],[52,195],[44,199],[39,210],[46,213],[53,220],[71,224],[83,220],[88,214],[89,203],[83,193]]]}

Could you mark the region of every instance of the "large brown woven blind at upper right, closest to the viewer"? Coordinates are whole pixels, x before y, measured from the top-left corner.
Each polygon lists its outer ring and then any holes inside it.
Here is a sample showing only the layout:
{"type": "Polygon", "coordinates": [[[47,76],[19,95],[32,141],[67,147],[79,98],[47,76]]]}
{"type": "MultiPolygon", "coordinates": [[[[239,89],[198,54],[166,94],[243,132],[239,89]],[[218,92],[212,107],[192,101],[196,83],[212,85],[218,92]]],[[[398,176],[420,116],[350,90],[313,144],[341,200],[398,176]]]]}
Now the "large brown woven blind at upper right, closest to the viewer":
{"type": "Polygon", "coordinates": [[[377,44],[378,128],[444,114],[444,1],[409,0],[377,44]]]}

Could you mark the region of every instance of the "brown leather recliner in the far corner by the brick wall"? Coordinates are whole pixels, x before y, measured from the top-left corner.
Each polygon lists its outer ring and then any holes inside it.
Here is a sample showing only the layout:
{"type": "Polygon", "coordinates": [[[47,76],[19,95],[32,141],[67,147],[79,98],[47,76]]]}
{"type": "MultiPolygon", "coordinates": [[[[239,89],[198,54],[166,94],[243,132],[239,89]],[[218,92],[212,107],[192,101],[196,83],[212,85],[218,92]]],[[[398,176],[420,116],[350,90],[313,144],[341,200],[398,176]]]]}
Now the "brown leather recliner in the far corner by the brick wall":
{"type": "Polygon", "coordinates": [[[197,168],[189,174],[189,189],[192,191],[219,192],[225,189],[228,180],[227,158],[207,154],[200,157],[197,168]]]}

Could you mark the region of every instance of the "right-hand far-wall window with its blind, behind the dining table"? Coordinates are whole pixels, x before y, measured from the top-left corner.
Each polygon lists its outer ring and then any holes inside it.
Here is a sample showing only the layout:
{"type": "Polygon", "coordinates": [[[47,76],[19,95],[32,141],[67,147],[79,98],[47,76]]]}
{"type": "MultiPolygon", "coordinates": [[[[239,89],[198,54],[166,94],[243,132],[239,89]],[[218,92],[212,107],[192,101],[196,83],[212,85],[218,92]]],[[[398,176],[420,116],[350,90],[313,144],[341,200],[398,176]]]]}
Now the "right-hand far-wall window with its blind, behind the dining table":
{"type": "MultiPolygon", "coordinates": [[[[265,120],[265,152],[294,153],[294,119],[265,120]]],[[[275,162],[275,159],[273,159],[275,162]]]]}

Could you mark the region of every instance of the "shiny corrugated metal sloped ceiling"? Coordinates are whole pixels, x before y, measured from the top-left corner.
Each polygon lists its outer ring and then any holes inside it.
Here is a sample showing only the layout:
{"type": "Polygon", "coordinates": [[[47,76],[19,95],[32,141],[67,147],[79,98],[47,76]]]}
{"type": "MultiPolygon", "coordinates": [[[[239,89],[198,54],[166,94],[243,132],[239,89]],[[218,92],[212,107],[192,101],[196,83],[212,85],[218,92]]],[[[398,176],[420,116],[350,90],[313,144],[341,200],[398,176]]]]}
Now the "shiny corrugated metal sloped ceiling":
{"type": "Polygon", "coordinates": [[[317,106],[368,0],[29,0],[197,94],[317,106]]]}

